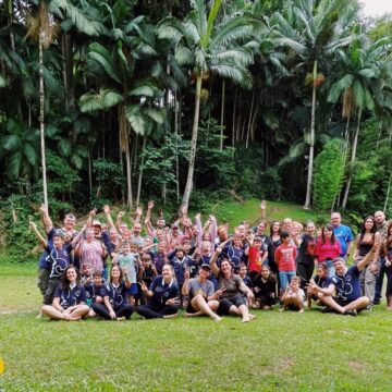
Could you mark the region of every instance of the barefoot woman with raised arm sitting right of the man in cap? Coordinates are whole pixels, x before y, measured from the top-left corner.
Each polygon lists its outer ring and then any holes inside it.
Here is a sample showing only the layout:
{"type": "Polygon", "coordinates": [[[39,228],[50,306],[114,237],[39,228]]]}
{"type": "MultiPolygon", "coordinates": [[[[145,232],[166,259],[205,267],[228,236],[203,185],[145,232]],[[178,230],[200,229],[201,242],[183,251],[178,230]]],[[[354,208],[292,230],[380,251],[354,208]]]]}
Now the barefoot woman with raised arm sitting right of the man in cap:
{"type": "Polygon", "coordinates": [[[249,314],[246,301],[241,295],[246,293],[248,299],[255,298],[252,290],[243,282],[240,275],[233,273],[232,265],[228,259],[221,261],[220,268],[217,266],[217,260],[222,252],[220,246],[217,247],[216,253],[211,257],[210,267],[215,277],[219,282],[218,299],[219,307],[217,314],[242,316],[243,322],[248,322],[255,318],[249,314]]]}

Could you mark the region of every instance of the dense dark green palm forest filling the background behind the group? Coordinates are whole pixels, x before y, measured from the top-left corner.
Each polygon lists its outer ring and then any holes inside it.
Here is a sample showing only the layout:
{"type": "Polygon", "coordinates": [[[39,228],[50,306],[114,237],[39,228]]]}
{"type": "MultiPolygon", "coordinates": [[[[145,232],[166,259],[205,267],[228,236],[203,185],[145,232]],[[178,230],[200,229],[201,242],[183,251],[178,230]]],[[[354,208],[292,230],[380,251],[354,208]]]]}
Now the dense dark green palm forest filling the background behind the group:
{"type": "Polygon", "coordinates": [[[357,0],[0,0],[0,10],[4,206],[22,195],[28,217],[42,200],[45,135],[56,218],[148,198],[175,209],[193,160],[195,207],[228,191],[303,203],[309,146],[316,208],[391,212],[389,16],[364,20],[357,0]],[[322,161],[342,144],[339,181],[321,197],[322,161]]]}

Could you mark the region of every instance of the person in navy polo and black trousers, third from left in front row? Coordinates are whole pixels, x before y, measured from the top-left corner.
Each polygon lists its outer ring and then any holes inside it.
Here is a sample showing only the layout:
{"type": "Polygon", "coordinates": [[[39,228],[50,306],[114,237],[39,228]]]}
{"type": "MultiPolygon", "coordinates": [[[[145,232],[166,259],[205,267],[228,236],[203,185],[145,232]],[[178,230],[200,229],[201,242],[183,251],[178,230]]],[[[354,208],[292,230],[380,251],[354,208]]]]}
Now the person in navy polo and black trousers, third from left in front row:
{"type": "Polygon", "coordinates": [[[154,279],[149,289],[142,281],[143,293],[150,298],[148,305],[140,305],[135,310],[146,319],[173,318],[180,307],[179,285],[174,279],[174,269],[170,265],[162,267],[162,274],[154,279]]]}

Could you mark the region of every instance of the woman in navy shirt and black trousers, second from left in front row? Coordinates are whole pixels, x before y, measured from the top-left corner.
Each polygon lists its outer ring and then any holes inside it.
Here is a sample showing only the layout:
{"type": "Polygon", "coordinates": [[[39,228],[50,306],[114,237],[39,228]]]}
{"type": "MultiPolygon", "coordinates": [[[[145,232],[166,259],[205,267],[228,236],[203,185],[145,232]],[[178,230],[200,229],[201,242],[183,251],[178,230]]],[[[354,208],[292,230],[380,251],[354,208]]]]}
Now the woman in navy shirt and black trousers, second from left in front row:
{"type": "Polygon", "coordinates": [[[110,281],[106,284],[107,292],[103,295],[103,303],[93,304],[93,310],[106,320],[128,320],[134,313],[133,306],[127,303],[126,293],[130,287],[131,280],[127,269],[113,266],[110,270],[110,281]]]}

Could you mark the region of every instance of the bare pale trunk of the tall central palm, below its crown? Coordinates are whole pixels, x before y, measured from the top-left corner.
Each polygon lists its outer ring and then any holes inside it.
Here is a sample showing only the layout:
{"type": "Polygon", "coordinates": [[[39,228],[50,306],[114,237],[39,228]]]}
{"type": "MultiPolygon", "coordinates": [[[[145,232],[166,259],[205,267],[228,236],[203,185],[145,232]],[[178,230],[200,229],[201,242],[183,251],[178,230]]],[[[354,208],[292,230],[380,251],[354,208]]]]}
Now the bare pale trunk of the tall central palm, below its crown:
{"type": "Polygon", "coordinates": [[[195,97],[195,113],[194,113],[194,123],[192,127],[192,140],[191,140],[191,152],[189,152],[189,166],[188,173],[186,177],[186,185],[183,195],[183,205],[189,205],[189,197],[193,187],[193,177],[195,170],[195,158],[196,158],[196,146],[197,146],[197,133],[198,133],[198,123],[200,114],[200,91],[201,91],[201,73],[197,75],[196,79],[196,97],[195,97]]]}

